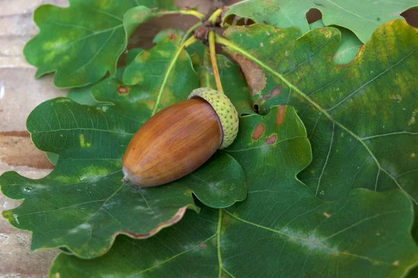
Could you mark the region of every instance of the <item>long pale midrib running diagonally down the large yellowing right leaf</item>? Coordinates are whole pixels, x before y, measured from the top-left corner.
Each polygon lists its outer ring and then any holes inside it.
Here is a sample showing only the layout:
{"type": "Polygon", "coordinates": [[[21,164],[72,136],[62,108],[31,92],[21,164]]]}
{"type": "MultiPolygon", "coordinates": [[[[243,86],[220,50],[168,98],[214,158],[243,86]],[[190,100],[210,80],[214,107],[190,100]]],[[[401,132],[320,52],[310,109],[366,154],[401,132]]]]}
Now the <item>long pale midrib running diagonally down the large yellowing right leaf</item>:
{"type": "MultiPolygon", "coordinates": [[[[329,113],[327,113],[327,111],[324,108],[322,108],[319,104],[317,104],[315,101],[313,101],[312,99],[310,99],[308,95],[304,94],[304,92],[302,92],[301,90],[299,90],[299,88],[297,88],[295,85],[293,85],[293,83],[291,83],[290,81],[288,81],[282,74],[279,74],[279,72],[274,71],[271,67],[269,67],[268,65],[265,65],[265,63],[263,63],[261,60],[258,60],[256,57],[252,56],[251,54],[249,54],[244,49],[241,49],[240,47],[238,47],[237,45],[235,45],[233,42],[231,42],[229,40],[226,40],[224,38],[217,38],[217,41],[219,43],[221,43],[221,44],[224,44],[226,47],[230,47],[231,49],[234,49],[235,51],[238,51],[240,54],[246,56],[250,60],[253,60],[255,63],[257,63],[258,65],[260,65],[261,67],[263,67],[265,70],[268,70],[268,72],[271,72],[272,74],[274,74],[274,76],[277,76],[281,81],[283,81],[286,85],[288,85],[289,88],[291,88],[292,90],[295,90],[295,92],[297,92],[298,95],[300,95],[301,97],[303,97],[304,99],[306,99],[307,101],[309,101],[309,103],[312,104],[318,111],[320,111],[321,113],[323,113],[323,115],[325,115],[328,119],[330,119],[332,122],[334,122],[334,124],[336,124],[337,126],[341,127],[341,129],[345,130],[347,133],[349,133],[351,136],[353,136],[357,141],[359,141],[363,145],[363,147],[366,149],[366,151],[369,152],[370,156],[373,158],[373,161],[375,161],[376,165],[378,166],[378,170],[384,172],[385,174],[387,174],[387,176],[394,181],[394,183],[396,184],[396,186],[398,186],[398,188],[400,188],[403,191],[403,193],[405,193],[405,195],[408,195],[408,197],[412,200],[412,202],[414,202],[415,204],[418,205],[418,201],[416,199],[414,199],[408,193],[408,191],[406,191],[401,186],[400,183],[398,183],[398,181],[396,180],[396,178],[393,177],[391,174],[389,174],[389,172],[387,172],[387,170],[385,170],[385,169],[382,168],[382,166],[380,165],[378,159],[373,154],[373,152],[371,152],[371,149],[369,149],[369,147],[362,140],[362,138],[360,138],[359,136],[357,136],[357,134],[355,134],[353,131],[351,131],[350,129],[348,129],[346,126],[344,126],[340,122],[334,120],[334,118],[329,113]]],[[[418,47],[415,48],[415,49],[413,49],[410,54],[407,54],[407,56],[410,56],[413,52],[417,51],[417,49],[418,49],[418,47]]],[[[406,58],[406,56],[403,57],[401,60],[403,60],[405,58],[406,58]]]]}

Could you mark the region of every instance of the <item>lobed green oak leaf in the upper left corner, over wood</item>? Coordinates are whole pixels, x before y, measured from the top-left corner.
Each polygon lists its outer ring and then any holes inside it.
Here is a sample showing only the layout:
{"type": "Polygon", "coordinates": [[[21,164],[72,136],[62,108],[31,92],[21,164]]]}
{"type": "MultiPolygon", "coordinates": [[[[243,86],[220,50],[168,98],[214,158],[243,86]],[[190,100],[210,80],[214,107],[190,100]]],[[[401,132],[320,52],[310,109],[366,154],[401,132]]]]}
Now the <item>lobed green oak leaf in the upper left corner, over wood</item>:
{"type": "Polygon", "coordinates": [[[56,72],[60,88],[93,84],[109,72],[139,24],[176,11],[171,0],[70,0],[70,7],[43,5],[34,20],[40,33],[24,47],[36,78],[56,72]],[[157,8],[157,9],[155,9],[157,8]]]}

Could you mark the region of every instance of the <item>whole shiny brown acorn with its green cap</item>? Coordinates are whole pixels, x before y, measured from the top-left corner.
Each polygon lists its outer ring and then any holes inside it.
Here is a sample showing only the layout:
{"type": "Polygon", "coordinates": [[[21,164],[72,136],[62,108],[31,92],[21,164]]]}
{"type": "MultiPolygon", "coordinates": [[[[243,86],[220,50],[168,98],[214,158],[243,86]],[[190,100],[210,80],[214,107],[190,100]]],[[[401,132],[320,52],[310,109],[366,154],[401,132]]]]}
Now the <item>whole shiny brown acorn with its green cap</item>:
{"type": "Polygon", "coordinates": [[[193,90],[138,129],[123,156],[122,181],[150,187],[180,179],[231,145],[237,133],[238,113],[228,97],[210,88],[193,90]]]}

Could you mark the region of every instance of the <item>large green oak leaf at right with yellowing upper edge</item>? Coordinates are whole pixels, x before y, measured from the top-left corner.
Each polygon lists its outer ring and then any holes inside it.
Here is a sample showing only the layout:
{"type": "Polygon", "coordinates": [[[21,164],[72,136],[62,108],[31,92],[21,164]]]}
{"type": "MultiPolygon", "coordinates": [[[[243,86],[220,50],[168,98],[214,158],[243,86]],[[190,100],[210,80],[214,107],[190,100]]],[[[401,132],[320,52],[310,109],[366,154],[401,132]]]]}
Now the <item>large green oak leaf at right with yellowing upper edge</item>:
{"type": "Polygon", "coordinates": [[[314,153],[300,179],[318,197],[401,188],[417,204],[417,33],[401,19],[383,24],[347,65],[332,62],[341,33],[330,27],[302,37],[297,28],[233,27],[225,50],[261,111],[297,109],[314,153]]]}

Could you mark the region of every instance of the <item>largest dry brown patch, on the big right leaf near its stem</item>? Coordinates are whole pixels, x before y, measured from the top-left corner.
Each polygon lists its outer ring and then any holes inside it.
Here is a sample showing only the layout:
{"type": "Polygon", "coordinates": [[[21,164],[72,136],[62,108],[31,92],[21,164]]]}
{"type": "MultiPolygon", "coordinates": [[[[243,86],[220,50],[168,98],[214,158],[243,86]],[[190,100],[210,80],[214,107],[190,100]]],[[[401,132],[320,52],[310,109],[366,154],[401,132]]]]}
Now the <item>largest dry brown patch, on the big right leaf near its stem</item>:
{"type": "Polygon", "coordinates": [[[265,88],[267,81],[263,69],[242,54],[233,54],[233,58],[240,64],[251,95],[257,95],[265,88]]]}

